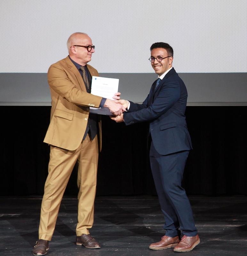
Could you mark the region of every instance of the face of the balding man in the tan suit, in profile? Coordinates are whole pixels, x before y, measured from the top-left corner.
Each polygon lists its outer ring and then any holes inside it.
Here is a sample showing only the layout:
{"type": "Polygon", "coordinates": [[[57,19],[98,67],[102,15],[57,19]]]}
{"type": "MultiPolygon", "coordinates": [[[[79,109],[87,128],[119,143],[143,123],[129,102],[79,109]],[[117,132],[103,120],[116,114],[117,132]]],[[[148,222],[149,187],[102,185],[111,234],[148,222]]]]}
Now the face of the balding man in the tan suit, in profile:
{"type": "MultiPolygon", "coordinates": [[[[88,35],[83,34],[77,34],[72,42],[72,45],[92,45],[92,40],[88,35]]],[[[79,46],[72,46],[69,51],[69,56],[72,60],[74,60],[76,63],[84,66],[89,61],[91,61],[92,53],[94,52],[94,49],[92,48],[90,52],[88,52],[87,48],[79,47],[79,46]]]]}

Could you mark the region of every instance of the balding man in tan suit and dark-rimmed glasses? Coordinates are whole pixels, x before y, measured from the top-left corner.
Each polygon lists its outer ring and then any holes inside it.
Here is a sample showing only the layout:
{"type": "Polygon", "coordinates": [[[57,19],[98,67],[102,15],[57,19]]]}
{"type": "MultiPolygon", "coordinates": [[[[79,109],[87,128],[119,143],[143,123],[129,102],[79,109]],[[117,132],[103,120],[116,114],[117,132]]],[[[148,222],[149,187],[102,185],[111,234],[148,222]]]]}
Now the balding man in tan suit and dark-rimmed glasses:
{"type": "MultiPolygon", "coordinates": [[[[48,176],[41,205],[39,240],[33,255],[49,250],[60,203],[74,165],[78,162],[78,222],[76,244],[100,248],[89,234],[93,224],[94,198],[98,166],[98,136],[101,130],[98,115],[89,114],[89,107],[108,107],[114,115],[125,108],[114,100],[92,95],[92,76],[98,72],[87,63],[94,46],[85,33],[74,33],[67,42],[69,56],[52,64],[48,70],[51,90],[51,120],[44,142],[51,145],[48,176]]],[[[120,93],[115,94],[119,99],[120,93]]]]}

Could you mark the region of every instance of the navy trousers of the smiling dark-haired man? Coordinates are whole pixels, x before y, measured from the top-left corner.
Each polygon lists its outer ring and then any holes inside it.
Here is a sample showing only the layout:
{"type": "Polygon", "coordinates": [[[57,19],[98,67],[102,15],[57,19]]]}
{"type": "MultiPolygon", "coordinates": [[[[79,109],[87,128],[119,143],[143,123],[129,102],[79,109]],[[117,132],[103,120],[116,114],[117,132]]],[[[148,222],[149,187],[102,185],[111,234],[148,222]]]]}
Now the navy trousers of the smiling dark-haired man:
{"type": "Polygon", "coordinates": [[[166,236],[196,236],[197,229],[192,209],[181,187],[183,172],[189,151],[181,151],[170,155],[160,155],[150,146],[150,164],[154,177],[161,210],[164,214],[166,236]],[[179,231],[180,230],[180,231],[179,231]]]}

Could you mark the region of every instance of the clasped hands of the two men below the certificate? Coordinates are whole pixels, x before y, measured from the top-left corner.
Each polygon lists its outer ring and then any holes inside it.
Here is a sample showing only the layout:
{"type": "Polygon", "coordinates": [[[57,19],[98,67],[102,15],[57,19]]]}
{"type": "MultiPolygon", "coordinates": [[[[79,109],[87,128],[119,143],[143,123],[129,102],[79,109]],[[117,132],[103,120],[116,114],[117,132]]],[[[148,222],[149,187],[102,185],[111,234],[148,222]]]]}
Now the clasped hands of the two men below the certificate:
{"type": "Polygon", "coordinates": [[[127,100],[120,100],[120,92],[115,93],[113,98],[115,100],[106,99],[104,107],[107,107],[112,112],[111,119],[118,122],[123,122],[123,113],[128,108],[129,102],[127,100]]]}

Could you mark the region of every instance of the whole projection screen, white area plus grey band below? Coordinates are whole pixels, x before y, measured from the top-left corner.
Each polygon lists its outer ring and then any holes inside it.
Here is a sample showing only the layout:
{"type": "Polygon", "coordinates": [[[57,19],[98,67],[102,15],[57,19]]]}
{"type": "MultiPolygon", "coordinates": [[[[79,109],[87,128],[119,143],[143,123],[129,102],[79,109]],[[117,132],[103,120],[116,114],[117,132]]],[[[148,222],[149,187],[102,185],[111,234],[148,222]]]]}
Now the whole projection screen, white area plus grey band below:
{"type": "Polygon", "coordinates": [[[157,78],[149,48],[166,42],[188,105],[247,105],[246,13],[245,0],[1,0],[0,105],[50,105],[46,72],[74,32],[92,38],[89,64],[119,78],[122,98],[146,98],[157,78]]]}

